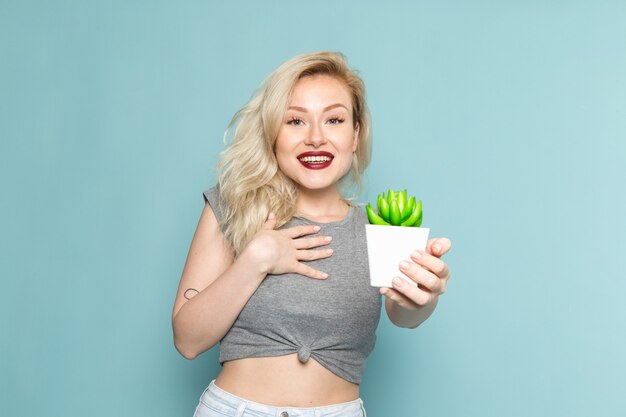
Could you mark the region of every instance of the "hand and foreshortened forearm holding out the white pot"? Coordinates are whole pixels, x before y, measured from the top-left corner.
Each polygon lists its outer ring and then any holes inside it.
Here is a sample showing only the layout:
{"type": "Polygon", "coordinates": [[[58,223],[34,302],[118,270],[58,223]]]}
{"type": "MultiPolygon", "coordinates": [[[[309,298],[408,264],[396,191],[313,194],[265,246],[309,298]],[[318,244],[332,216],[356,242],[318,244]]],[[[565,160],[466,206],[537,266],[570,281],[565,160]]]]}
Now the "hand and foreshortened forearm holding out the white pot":
{"type": "Polygon", "coordinates": [[[401,262],[400,270],[417,286],[396,277],[393,288],[380,289],[386,297],[385,311],[393,324],[414,329],[433,313],[450,278],[448,266],[439,257],[448,252],[450,246],[448,239],[433,239],[426,252],[415,251],[411,261],[401,262]]]}

